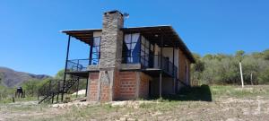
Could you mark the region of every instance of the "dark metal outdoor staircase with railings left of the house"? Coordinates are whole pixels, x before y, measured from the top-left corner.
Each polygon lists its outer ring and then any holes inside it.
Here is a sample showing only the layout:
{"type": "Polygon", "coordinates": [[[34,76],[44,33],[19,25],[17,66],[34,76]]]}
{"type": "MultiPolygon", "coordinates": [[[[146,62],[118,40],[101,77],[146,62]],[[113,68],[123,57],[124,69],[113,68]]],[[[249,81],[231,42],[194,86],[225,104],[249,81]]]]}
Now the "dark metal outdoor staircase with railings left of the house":
{"type": "Polygon", "coordinates": [[[41,102],[49,102],[54,103],[54,99],[56,98],[56,102],[58,102],[59,95],[62,93],[67,93],[71,89],[72,86],[76,82],[78,82],[79,78],[73,78],[65,80],[50,80],[42,85],[39,89],[39,103],[41,102]]]}

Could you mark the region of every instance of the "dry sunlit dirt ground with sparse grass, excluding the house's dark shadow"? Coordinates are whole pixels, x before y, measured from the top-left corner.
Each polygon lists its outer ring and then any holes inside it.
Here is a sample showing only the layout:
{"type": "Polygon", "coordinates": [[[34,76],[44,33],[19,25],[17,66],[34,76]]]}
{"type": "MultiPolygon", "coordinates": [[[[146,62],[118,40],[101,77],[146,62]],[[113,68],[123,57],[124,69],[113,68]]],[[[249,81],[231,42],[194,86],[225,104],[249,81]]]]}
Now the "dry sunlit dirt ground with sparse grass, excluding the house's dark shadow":
{"type": "Polygon", "coordinates": [[[269,120],[269,86],[244,90],[211,87],[212,101],[133,100],[109,103],[37,104],[24,101],[0,104],[0,120],[269,120]]]}

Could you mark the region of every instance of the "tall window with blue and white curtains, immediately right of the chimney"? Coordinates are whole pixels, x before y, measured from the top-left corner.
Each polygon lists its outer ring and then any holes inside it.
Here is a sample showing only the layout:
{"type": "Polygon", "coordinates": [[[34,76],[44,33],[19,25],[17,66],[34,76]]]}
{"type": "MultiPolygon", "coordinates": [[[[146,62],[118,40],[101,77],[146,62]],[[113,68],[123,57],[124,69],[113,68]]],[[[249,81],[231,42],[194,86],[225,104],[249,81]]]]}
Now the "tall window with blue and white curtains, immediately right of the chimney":
{"type": "Polygon", "coordinates": [[[123,44],[123,63],[139,63],[140,58],[140,34],[126,34],[123,44]]]}

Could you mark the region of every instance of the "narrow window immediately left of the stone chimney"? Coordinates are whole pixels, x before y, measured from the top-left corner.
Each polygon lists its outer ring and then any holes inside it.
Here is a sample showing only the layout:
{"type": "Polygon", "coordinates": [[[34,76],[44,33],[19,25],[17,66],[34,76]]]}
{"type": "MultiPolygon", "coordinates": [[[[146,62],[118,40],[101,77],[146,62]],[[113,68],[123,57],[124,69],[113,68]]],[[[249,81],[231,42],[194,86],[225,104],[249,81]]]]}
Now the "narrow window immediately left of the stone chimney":
{"type": "Polygon", "coordinates": [[[100,37],[93,38],[91,65],[98,65],[100,60],[100,37]]]}

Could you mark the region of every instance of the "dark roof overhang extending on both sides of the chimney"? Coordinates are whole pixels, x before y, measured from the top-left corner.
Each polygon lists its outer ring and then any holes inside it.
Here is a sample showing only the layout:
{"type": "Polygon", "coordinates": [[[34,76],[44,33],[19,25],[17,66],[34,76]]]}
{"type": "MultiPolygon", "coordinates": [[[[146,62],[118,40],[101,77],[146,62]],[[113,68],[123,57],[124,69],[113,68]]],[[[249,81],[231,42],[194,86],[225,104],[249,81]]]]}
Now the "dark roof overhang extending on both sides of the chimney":
{"type": "MultiPolygon", "coordinates": [[[[180,48],[187,56],[191,63],[195,63],[195,58],[189,51],[185,43],[180,39],[176,30],[169,25],[163,26],[146,26],[134,28],[122,28],[124,33],[141,33],[144,38],[149,39],[151,42],[158,44],[163,48],[180,48]],[[161,44],[163,39],[163,44],[161,44]]],[[[93,32],[102,31],[101,29],[86,29],[86,30],[62,30],[63,33],[79,39],[82,42],[91,45],[93,41],[93,32]]]]}

